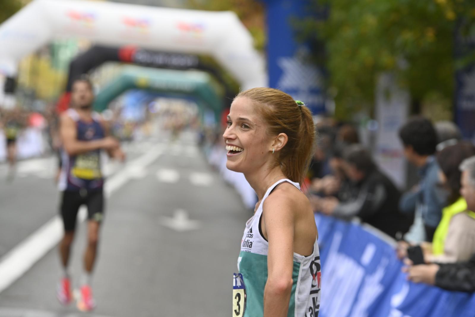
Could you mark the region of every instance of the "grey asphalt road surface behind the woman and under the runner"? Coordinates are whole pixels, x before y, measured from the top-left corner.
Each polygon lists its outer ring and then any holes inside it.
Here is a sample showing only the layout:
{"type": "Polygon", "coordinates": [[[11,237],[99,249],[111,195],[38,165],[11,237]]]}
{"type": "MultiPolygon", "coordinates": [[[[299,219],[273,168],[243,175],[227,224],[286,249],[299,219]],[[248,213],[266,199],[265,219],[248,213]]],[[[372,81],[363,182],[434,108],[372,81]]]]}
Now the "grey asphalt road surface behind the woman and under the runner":
{"type": "MultiPolygon", "coordinates": [[[[55,246],[0,293],[0,317],[229,316],[231,277],[250,211],[209,167],[193,133],[174,142],[160,134],[126,148],[125,164],[108,164],[95,311],[79,313],[57,302],[55,246]]],[[[20,162],[12,182],[0,166],[0,266],[57,215],[55,166],[55,158],[20,162]]],[[[84,245],[82,223],[71,259],[75,287],[84,245]]]]}

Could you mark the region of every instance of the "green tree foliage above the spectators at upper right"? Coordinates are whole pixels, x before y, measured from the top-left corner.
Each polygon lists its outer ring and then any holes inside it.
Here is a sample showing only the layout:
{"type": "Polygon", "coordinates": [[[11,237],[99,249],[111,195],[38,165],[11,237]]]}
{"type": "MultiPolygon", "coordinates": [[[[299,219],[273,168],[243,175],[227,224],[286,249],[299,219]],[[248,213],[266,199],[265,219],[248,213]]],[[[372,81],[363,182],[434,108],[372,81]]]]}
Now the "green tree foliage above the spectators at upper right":
{"type": "MultiPolygon", "coordinates": [[[[473,0],[314,0],[328,6],[328,19],[307,19],[300,28],[309,42],[325,43],[329,91],[340,116],[372,108],[381,72],[397,75],[415,104],[428,98],[451,100],[455,68],[454,35],[475,35],[473,0]]],[[[321,61],[321,60],[320,60],[321,61]]],[[[468,59],[465,58],[465,63],[468,59]]]]}

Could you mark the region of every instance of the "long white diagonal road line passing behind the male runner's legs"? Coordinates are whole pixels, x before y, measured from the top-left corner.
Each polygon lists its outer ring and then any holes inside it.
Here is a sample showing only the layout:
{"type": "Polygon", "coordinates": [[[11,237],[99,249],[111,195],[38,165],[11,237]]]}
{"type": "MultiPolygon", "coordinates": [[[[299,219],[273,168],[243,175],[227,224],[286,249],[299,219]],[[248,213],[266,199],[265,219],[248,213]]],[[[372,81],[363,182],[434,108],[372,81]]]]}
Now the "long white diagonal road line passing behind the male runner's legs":
{"type": "MultiPolygon", "coordinates": [[[[145,168],[162,153],[163,147],[157,146],[128,163],[126,167],[130,165],[145,168]]],[[[115,190],[127,183],[131,179],[132,174],[133,171],[131,172],[128,168],[118,171],[117,174],[109,178],[105,183],[105,195],[110,196],[115,190]]],[[[85,210],[80,210],[80,220],[84,221],[85,217],[85,210]]],[[[62,235],[62,220],[59,216],[56,216],[0,258],[0,293],[53,248],[59,242],[62,235]]]]}

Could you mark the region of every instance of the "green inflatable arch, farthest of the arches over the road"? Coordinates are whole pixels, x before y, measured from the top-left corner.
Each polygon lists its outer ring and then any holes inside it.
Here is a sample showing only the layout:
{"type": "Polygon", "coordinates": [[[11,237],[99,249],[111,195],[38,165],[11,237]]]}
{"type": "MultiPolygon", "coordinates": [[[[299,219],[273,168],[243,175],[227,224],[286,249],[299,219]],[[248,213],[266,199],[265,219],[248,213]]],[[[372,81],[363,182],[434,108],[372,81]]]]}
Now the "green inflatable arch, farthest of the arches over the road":
{"type": "Polygon", "coordinates": [[[188,95],[197,99],[200,113],[205,109],[214,112],[217,122],[223,109],[223,89],[206,72],[195,70],[151,69],[124,66],[117,77],[95,97],[94,109],[103,111],[117,96],[129,89],[188,95]]]}

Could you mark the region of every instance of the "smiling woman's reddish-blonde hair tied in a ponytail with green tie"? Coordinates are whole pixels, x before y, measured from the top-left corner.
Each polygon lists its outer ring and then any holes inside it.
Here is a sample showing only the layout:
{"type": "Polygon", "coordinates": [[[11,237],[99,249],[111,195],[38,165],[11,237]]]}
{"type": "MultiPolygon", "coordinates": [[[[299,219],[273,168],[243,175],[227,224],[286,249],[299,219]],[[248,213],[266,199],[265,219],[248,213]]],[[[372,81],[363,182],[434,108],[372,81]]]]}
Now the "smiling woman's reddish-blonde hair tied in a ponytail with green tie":
{"type": "Polygon", "coordinates": [[[252,88],[237,94],[253,101],[267,124],[267,133],[285,133],[287,144],[277,156],[285,177],[301,183],[308,170],[315,142],[315,127],[310,110],[288,94],[272,88],[252,88]]]}

